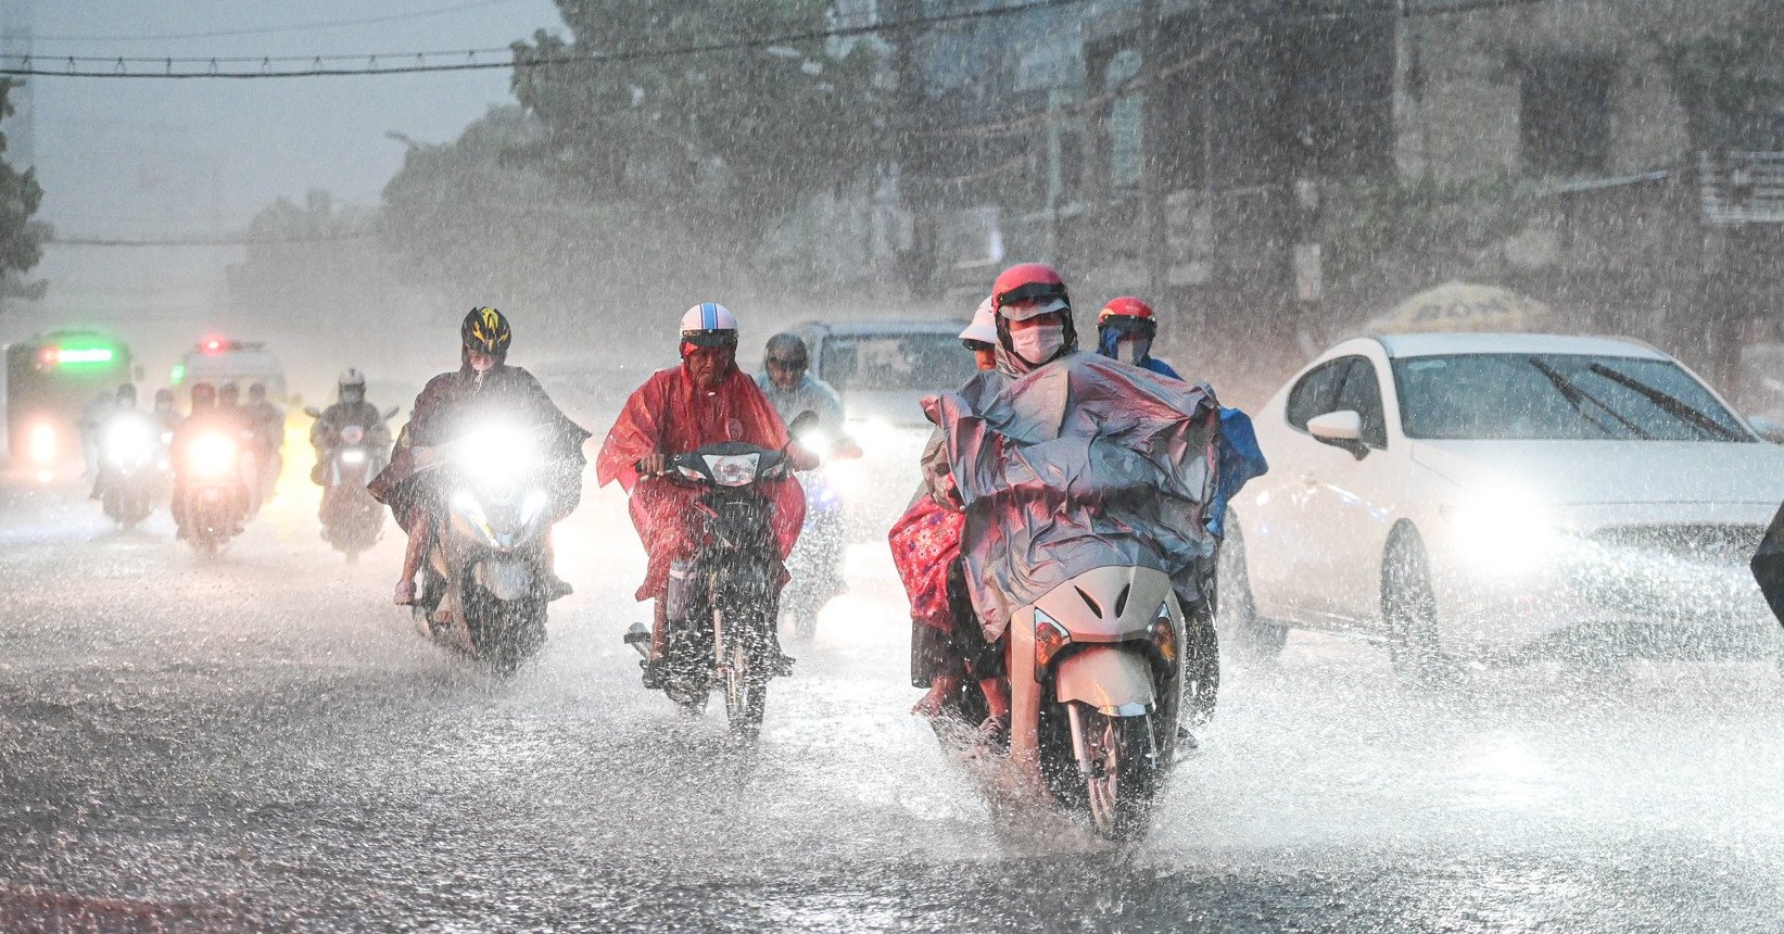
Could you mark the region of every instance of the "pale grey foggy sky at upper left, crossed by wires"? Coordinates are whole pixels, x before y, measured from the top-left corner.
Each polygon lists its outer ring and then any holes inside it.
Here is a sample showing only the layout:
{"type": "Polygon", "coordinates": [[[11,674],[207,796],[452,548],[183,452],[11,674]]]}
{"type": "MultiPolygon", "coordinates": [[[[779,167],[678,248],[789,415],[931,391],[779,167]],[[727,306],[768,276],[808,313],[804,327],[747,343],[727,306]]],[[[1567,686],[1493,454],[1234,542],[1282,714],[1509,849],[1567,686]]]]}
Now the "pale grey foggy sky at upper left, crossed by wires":
{"type": "MultiPolygon", "coordinates": [[[[401,16],[475,0],[0,0],[34,13],[34,54],[318,55],[496,48],[558,29],[551,0],[483,0],[473,9],[387,23],[203,39],[95,39],[253,30],[401,16]],[[61,38],[87,38],[82,41],[61,38]]],[[[5,16],[0,16],[4,20],[5,16]]],[[[30,79],[39,216],[62,238],[216,238],[241,232],[277,196],[312,188],[376,204],[403,146],[451,139],[494,104],[508,71],[269,80],[30,79]]],[[[16,155],[16,154],[14,154],[16,155]]],[[[194,321],[227,327],[223,268],[239,248],[48,246],[32,279],[50,293],[0,316],[0,341],[45,327],[100,325],[150,350],[184,345],[194,321]]]]}

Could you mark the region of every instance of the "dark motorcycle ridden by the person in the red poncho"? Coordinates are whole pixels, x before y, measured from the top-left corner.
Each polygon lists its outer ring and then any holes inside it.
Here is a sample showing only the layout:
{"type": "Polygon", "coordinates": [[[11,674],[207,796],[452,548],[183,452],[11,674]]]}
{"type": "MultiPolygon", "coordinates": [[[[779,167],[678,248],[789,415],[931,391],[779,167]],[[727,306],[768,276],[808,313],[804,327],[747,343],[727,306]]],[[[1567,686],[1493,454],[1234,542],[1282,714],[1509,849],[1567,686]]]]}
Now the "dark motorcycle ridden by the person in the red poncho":
{"type": "MultiPolygon", "coordinates": [[[[796,434],[808,416],[794,420],[796,434]]],[[[692,509],[703,523],[703,545],[669,568],[662,689],[690,716],[705,713],[719,689],[731,732],[753,739],[762,730],[769,680],[781,673],[774,505],[756,486],[790,477],[792,463],[787,450],[724,441],[671,457],[667,475],[703,489],[692,509]]],[[[649,659],[649,627],[632,623],[626,643],[649,659]]]]}

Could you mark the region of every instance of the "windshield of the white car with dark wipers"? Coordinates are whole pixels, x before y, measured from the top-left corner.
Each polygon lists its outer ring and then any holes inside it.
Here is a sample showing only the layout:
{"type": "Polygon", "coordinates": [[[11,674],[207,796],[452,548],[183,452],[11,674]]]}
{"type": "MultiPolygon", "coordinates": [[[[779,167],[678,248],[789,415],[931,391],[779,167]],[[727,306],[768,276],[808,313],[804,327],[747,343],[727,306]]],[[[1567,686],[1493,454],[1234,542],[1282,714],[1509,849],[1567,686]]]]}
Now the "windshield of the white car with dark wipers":
{"type": "Polygon", "coordinates": [[[1393,361],[1408,438],[1754,441],[1672,361],[1458,354],[1393,361]]]}

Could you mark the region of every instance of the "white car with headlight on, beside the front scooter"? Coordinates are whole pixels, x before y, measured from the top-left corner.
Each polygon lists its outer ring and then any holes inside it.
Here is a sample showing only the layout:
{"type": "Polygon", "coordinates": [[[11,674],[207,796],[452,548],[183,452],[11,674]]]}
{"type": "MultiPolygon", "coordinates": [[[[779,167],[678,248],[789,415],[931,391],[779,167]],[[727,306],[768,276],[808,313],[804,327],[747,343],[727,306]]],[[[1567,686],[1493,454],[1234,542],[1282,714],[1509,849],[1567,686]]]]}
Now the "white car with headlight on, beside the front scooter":
{"type": "Polygon", "coordinates": [[[1638,341],[1340,343],[1256,416],[1270,473],[1233,504],[1222,616],[1386,643],[1413,682],[1543,657],[1777,657],[1748,559],[1784,446],[1638,341]]]}

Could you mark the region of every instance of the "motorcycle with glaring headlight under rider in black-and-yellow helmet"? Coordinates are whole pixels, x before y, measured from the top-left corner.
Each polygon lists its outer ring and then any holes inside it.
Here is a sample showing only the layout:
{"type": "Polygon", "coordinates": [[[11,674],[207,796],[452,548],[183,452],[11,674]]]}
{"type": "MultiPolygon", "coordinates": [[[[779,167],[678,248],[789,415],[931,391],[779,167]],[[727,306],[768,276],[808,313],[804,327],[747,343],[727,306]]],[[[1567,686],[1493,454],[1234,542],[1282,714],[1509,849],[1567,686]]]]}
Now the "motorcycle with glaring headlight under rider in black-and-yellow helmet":
{"type": "Polygon", "coordinates": [[[423,636],[512,675],[546,643],[542,588],[551,495],[539,432],[483,427],[416,448],[444,473],[446,541],[428,548],[414,614],[423,636]]]}

